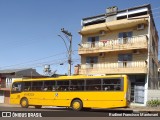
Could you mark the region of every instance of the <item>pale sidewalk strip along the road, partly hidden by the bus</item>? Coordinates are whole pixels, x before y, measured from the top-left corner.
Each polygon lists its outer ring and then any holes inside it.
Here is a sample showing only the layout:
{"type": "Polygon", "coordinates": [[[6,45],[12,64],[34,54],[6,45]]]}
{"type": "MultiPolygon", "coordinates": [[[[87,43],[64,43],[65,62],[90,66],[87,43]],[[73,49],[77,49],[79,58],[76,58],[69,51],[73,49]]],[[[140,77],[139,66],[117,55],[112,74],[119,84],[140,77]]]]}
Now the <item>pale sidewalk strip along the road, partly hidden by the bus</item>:
{"type": "MultiPolygon", "coordinates": [[[[0,107],[21,107],[20,105],[11,105],[11,104],[2,104],[0,107]]],[[[43,108],[63,108],[64,107],[52,107],[52,106],[43,106],[43,108]]],[[[65,107],[66,108],[66,107],[65,107]]],[[[160,107],[144,107],[144,106],[132,106],[130,108],[113,108],[113,109],[103,109],[109,111],[133,111],[133,112],[160,112],[160,107]]]]}

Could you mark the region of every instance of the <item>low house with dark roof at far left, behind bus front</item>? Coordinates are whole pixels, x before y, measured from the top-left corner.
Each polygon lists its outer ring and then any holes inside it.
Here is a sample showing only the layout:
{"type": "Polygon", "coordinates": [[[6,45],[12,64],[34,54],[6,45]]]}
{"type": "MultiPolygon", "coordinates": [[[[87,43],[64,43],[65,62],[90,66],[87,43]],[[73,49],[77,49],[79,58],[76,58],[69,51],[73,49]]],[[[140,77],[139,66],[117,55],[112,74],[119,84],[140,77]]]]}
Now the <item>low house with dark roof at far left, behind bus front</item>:
{"type": "Polygon", "coordinates": [[[40,76],[35,69],[0,70],[0,103],[9,103],[10,88],[15,79],[40,76]]]}

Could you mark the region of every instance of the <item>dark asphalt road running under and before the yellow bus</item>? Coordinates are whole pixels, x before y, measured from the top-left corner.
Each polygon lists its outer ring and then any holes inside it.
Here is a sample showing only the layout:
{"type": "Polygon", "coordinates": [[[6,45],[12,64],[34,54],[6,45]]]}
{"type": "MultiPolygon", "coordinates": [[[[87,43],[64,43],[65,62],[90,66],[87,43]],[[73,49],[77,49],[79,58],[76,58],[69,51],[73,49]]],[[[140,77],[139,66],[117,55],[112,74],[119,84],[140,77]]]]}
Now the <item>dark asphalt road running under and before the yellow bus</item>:
{"type": "MultiPolygon", "coordinates": [[[[92,109],[90,111],[73,111],[69,108],[41,108],[35,109],[34,107],[29,108],[21,108],[21,107],[0,107],[0,117],[5,117],[7,120],[9,119],[8,116],[12,117],[12,120],[15,118],[16,120],[19,119],[27,119],[28,117],[38,117],[38,120],[46,118],[55,118],[65,119],[65,120],[72,120],[71,118],[75,118],[76,120],[150,120],[151,117],[138,117],[135,115],[139,115],[139,113],[134,113],[133,111],[125,111],[125,110],[99,110],[99,109],[92,109]],[[6,113],[8,112],[8,113],[6,113]],[[126,115],[134,115],[131,117],[124,117],[123,114],[126,115]],[[112,116],[112,117],[111,117],[112,116]],[[114,116],[114,117],[113,117],[114,116]],[[82,119],[83,117],[83,119],[82,119]],[[81,119],[80,119],[81,118],[81,119]]],[[[152,120],[159,120],[160,117],[153,117],[152,120]]],[[[1,119],[1,118],[0,118],[1,119]]],[[[32,118],[33,119],[33,118],[32,118]]],[[[52,119],[53,120],[53,119],[52,119]]]]}

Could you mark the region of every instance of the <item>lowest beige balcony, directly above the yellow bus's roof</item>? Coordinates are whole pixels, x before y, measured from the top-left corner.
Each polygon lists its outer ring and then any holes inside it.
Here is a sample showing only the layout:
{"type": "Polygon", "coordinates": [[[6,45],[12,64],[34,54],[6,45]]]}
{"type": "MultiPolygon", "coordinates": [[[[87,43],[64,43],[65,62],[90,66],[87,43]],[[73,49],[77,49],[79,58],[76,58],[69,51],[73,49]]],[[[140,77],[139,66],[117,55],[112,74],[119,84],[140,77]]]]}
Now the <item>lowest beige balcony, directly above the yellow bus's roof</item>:
{"type": "Polygon", "coordinates": [[[145,61],[127,61],[117,63],[81,64],[79,74],[135,74],[147,73],[145,61]]]}

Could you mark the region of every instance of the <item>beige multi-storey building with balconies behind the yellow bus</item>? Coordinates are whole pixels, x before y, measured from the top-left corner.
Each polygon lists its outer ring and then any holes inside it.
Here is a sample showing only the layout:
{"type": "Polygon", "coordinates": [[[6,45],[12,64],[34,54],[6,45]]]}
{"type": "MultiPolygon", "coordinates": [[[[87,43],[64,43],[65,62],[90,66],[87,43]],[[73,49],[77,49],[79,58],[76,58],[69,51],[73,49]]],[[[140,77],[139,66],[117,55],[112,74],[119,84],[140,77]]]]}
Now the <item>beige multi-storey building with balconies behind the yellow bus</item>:
{"type": "Polygon", "coordinates": [[[75,67],[75,74],[127,74],[133,104],[146,105],[154,99],[149,90],[159,88],[159,38],[150,4],[125,10],[110,7],[81,23],[81,64],[75,67]]]}

